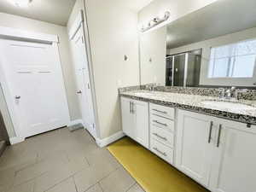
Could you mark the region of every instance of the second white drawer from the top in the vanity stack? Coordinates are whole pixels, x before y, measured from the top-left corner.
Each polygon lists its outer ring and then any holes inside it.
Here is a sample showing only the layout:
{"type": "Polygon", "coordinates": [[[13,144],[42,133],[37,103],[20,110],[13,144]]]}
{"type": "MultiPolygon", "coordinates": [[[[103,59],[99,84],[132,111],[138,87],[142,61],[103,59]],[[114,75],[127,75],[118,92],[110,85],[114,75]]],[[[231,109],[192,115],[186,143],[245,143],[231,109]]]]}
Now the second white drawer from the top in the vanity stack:
{"type": "Polygon", "coordinates": [[[150,114],[150,125],[174,132],[174,121],[150,114]]]}

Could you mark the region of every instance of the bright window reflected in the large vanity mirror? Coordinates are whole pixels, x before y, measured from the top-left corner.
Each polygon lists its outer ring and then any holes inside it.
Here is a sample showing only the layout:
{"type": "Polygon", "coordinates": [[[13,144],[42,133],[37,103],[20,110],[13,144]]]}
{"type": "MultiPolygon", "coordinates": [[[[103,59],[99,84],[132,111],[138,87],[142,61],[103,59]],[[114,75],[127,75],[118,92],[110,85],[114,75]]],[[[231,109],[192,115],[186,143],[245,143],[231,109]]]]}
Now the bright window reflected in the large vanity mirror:
{"type": "Polygon", "coordinates": [[[211,48],[208,78],[253,78],[256,39],[211,48]]]}

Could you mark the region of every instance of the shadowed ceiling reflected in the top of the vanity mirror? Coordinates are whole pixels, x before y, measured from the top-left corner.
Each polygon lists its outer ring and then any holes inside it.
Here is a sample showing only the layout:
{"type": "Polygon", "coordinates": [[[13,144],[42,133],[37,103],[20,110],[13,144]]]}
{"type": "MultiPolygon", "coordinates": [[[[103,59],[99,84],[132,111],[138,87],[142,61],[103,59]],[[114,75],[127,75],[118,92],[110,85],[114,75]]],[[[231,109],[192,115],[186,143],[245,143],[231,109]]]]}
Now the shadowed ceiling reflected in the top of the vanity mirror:
{"type": "Polygon", "coordinates": [[[217,38],[256,26],[255,0],[218,0],[167,27],[167,48],[217,38]]]}

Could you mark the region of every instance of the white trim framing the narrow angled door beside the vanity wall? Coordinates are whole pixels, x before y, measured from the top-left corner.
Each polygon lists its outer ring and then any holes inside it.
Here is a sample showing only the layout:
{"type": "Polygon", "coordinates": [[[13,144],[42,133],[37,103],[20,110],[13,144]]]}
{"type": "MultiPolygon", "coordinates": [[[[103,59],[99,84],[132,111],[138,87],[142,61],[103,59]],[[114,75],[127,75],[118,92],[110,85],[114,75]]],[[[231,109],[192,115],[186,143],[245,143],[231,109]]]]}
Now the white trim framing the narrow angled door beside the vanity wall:
{"type": "MultiPolygon", "coordinates": [[[[94,82],[94,75],[93,75],[93,66],[92,66],[92,60],[91,60],[91,53],[90,53],[90,41],[89,41],[89,34],[88,31],[86,31],[85,27],[86,20],[84,20],[84,11],[80,9],[79,14],[77,15],[76,19],[73,21],[72,26],[70,27],[68,31],[68,38],[69,41],[72,41],[76,33],[79,31],[80,28],[82,28],[83,35],[84,35],[84,49],[86,51],[85,55],[87,55],[88,60],[88,70],[90,75],[90,90],[91,90],[91,96],[92,96],[92,104],[93,104],[93,113],[95,118],[95,129],[96,129],[96,143],[99,146],[102,146],[102,140],[101,140],[101,132],[99,128],[99,120],[98,120],[98,113],[97,113],[97,104],[96,104],[96,89],[95,89],[95,82],[94,82]]],[[[88,29],[87,29],[88,30],[88,29]]]]}

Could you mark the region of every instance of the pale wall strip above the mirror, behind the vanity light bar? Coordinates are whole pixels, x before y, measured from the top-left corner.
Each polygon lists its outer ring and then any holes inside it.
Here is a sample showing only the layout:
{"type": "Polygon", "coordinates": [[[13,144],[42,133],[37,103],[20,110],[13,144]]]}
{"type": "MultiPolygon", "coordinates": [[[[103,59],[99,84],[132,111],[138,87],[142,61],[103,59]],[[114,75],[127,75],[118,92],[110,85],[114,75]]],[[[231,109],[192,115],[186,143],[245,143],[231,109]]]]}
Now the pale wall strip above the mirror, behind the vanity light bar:
{"type": "Polygon", "coordinates": [[[156,16],[163,15],[167,10],[171,12],[170,18],[154,29],[164,26],[173,20],[201,9],[216,0],[154,0],[139,12],[139,23],[148,22],[156,16]]]}

